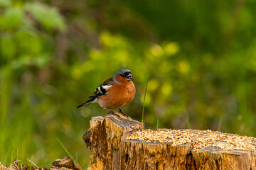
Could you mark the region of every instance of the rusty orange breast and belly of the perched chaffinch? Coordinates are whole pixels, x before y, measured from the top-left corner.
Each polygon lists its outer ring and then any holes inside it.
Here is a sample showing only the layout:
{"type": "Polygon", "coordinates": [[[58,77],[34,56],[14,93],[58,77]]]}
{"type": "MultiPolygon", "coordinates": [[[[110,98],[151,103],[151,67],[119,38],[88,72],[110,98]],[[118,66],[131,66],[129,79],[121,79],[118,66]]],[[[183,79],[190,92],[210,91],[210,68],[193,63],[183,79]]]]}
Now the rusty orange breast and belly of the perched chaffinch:
{"type": "Polygon", "coordinates": [[[102,108],[122,108],[131,103],[135,96],[135,86],[132,81],[125,84],[114,84],[107,89],[107,94],[98,97],[98,103],[102,108]]]}

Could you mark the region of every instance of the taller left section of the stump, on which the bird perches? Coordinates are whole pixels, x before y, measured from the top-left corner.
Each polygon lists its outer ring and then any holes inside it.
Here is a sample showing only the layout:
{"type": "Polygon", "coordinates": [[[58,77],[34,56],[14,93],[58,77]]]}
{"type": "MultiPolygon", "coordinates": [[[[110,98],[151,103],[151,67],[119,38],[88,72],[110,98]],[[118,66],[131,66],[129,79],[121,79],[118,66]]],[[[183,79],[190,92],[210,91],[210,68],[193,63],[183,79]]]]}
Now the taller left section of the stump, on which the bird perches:
{"type": "Polygon", "coordinates": [[[90,120],[90,132],[83,136],[85,144],[92,149],[89,169],[120,169],[123,157],[120,152],[120,142],[136,130],[142,130],[143,123],[120,115],[107,115],[106,117],[93,117],[90,120]],[[89,140],[90,139],[90,140],[89,140]]]}

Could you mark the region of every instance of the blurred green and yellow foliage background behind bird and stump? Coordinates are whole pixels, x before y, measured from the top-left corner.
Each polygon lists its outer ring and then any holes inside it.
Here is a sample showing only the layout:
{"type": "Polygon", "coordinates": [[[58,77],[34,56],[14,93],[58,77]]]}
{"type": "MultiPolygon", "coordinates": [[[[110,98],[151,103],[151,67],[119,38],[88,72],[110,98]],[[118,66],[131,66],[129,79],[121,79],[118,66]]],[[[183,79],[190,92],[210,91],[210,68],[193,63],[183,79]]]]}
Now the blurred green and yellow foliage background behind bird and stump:
{"type": "Polygon", "coordinates": [[[119,69],[137,94],[124,108],[146,128],[256,136],[256,1],[0,0],[0,162],[82,165],[97,104],[78,110],[119,69]]]}

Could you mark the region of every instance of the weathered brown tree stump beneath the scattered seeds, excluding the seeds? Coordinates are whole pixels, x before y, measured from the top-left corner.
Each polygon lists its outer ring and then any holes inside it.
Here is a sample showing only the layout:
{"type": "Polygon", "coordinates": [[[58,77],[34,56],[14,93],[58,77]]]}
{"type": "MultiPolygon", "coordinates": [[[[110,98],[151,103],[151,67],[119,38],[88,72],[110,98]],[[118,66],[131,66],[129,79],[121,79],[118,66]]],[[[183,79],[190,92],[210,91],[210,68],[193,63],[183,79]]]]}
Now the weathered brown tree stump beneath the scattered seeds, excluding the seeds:
{"type": "MultiPolygon", "coordinates": [[[[131,134],[141,130],[143,130],[143,123],[123,115],[119,115],[119,117],[116,115],[93,117],[90,120],[90,129],[83,136],[85,145],[93,152],[90,155],[88,170],[256,169],[255,150],[223,150],[213,146],[195,149],[193,148],[195,142],[188,142],[175,147],[174,143],[171,142],[149,140],[145,142],[142,138],[131,140],[131,134]]],[[[188,132],[189,130],[180,131],[188,132]]],[[[195,132],[201,133],[200,130],[195,132]]],[[[212,135],[220,132],[207,131],[206,133],[212,135]]],[[[223,136],[226,135],[230,134],[223,136]]],[[[256,146],[255,138],[250,139],[252,139],[252,147],[256,146]]],[[[213,143],[219,145],[221,142],[221,146],[228,145],[225,141],[216,140],[213,143]]]]}

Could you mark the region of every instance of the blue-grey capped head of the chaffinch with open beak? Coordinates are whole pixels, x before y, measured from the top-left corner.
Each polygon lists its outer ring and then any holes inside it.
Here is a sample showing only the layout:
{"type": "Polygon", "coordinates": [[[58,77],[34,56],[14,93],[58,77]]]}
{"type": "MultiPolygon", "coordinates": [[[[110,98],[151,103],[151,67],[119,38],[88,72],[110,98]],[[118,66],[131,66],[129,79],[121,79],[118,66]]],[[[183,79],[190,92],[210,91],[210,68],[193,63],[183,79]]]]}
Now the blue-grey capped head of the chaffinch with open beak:
{"type": "Polygon", "coordinates": [[[113,80],[121,85],[122,83],[126,83],[127,81],[133,81],[132,72],[129,69],[120,69],[116,74],[114,74],[113,80]]]}

